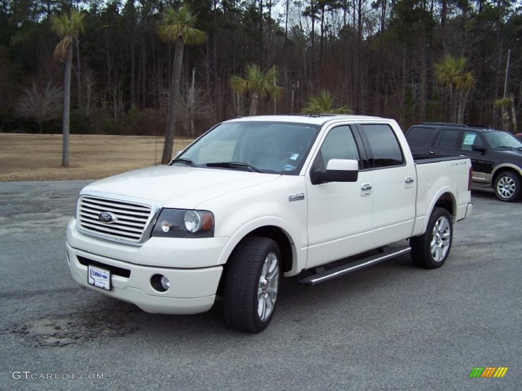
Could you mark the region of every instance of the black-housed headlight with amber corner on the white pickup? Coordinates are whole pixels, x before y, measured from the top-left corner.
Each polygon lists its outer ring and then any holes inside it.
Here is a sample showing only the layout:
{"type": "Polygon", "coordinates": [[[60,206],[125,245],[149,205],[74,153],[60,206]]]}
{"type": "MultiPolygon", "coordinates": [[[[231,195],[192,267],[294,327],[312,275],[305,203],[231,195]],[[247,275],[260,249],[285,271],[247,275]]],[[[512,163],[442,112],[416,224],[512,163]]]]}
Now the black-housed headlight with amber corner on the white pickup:
{"type": "Polygon", "coordinates": [[[214,236],[214,215],[209,211],[163,209],[151,236],[211,238],[214,236]]]}

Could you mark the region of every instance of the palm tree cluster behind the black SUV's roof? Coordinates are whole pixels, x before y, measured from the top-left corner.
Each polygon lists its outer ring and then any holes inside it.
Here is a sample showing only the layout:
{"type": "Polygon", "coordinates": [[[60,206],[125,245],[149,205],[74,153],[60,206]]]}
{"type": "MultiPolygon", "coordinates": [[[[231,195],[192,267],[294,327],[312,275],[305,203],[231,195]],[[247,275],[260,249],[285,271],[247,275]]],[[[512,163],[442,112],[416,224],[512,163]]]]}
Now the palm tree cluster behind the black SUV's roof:
{"type": "Polygon", "coordinates": [[[437,81],[449,88],[449,105],[453,122],[462,120],[469,91],[476,79],[473,72],[464,73],[467,59],[447,55],[438,64],[435,64],[435,76],[437,81]],[[459,91],[458,108],[454,100],[454,90],[459,91]]]}

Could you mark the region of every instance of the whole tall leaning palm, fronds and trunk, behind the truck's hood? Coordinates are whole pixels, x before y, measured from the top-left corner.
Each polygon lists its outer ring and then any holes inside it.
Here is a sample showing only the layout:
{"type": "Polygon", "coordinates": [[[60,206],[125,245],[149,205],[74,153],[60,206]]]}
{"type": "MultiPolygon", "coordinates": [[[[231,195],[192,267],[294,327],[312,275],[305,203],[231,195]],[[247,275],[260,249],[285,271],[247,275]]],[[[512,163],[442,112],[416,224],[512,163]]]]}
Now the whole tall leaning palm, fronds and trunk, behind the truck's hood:
{"type": "Polygon", "coordinates": [[[167,129],[165,130],[165,143],[163,145],[161,163],[169,163],[172,159],[172,147],[176,130],[176,96],[180,93],[183,50],[185,45],[200,45],[208,38],[204,31],[194,28],[195,25],[196,16],[192,13],[192,9],[187,5],[183,5],[178,9],[173,7],[165,8],[158,26],[158,34],[162,40],[176,42],[167,113],[167,129]]]}

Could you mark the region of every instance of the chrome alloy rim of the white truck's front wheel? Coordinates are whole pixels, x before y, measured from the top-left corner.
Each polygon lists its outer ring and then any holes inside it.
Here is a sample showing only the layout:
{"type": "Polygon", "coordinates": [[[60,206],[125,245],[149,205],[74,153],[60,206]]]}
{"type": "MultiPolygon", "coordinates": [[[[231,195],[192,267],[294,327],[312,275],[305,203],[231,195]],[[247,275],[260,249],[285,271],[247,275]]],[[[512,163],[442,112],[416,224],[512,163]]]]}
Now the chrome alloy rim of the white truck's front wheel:
{"type": "Polygon", "coordinates": [[[277,299],[279,285],[279,261],[275,252],[269,252],[259,276],[257,287],[257,315],[264,322],[268,319],[277,299]]]}

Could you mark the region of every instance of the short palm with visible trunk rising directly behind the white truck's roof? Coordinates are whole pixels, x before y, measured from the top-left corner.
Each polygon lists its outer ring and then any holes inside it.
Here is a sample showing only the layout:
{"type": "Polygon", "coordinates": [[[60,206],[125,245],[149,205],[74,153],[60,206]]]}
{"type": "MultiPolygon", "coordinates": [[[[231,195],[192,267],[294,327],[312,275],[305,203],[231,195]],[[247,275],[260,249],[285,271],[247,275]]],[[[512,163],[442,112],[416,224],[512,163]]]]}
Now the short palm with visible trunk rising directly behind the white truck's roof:
{"type": "Polygon", "coordinates": [[[277,85],[280,78],[280,72],[276,66],[263,72],[257,65],[248,64],[244,78],[232,75],[230,87],[240,95],[246,95],[249,92],[252,94],[248,115],[256,115],[260,98],[266,96],[277,98],[281,95],[282,88],[277,85]]]}

